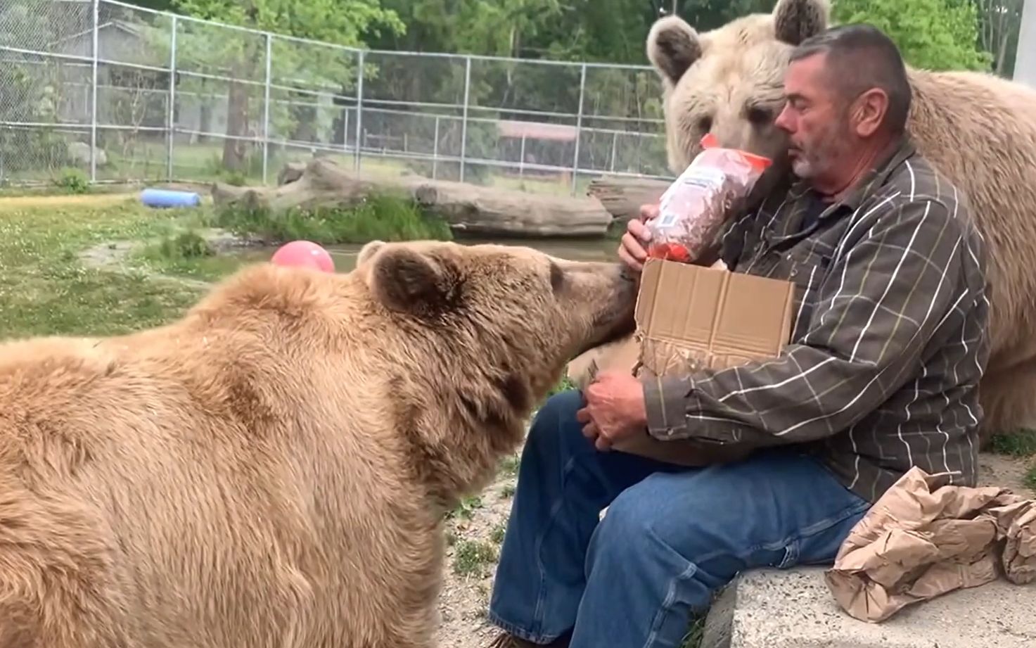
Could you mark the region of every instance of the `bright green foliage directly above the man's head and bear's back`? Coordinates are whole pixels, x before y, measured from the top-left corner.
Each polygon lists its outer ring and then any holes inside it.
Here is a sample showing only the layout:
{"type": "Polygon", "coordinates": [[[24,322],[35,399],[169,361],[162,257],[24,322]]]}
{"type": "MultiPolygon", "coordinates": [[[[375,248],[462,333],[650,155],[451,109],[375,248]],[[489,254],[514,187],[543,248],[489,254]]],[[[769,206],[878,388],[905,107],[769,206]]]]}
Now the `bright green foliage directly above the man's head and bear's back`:
{"type": "Polygon", "coordinates": [[[978,47],[978,13],[969,0],[835,0],[833,18],[884,30],[915,67],[990,68],[992,57],[978,47]]]}

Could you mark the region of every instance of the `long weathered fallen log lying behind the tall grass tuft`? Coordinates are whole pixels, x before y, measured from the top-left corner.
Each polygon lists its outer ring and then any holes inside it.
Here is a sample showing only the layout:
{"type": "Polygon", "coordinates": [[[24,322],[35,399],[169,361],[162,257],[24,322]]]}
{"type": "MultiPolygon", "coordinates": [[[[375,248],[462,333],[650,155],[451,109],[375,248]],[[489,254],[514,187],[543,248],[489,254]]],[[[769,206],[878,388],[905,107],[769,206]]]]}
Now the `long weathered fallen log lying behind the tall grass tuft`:
{"type": "Polygon", "coordinates": [[[300,174],[297,167],[286,169],[281,178],[287,181],[279,187],[217,182],[212,199],[221,207],[265,209],[278,215],[291,209],[345,208],[369,196],[395,195],[415,200],[445,220],[456,233],[473,236],[604,236],[612,222],[608,210],[593,197],[530,194],[418,175],[357,175],[327,158],[311,160],[300,174]]]}

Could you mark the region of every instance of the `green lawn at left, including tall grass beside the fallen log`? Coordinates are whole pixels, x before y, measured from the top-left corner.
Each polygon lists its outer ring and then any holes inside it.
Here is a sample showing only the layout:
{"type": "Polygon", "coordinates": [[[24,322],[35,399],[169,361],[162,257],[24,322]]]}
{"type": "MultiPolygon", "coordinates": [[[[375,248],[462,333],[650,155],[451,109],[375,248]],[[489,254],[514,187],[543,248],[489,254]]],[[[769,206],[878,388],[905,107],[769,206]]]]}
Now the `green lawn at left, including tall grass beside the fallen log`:
{"type": "Polygon", "coordinates": [[[204,228],[275,238],[355,243],[371,237],[444,237],[449,229],[406,205],[375,202],[355,214],[286,219],[215,215],[211,207],[151,209],[136,195],[86,194],[0,198],[0,339],[29,335],[118,334],[178,316],[200,297],[203,281],[242,260],[214,254],[204,228]],[[114,264],[85,262],[108,242],[137,242],[114,264]],[[99,248],[98,248],[99,247],[99,248]],[[177,281],[191,279],[194,281],[177,281]]]}

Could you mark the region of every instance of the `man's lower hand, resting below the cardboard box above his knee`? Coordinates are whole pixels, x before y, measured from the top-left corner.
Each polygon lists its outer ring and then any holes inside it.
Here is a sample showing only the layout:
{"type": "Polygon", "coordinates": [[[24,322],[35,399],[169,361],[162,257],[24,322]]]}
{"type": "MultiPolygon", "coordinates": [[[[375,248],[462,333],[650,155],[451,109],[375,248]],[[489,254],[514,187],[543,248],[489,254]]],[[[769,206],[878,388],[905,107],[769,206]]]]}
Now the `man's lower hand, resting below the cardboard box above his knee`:
{"type": "Polygon", "coordinates": [[[583,435],[598,450],[643,432],[648,426],[640,381],[624,371],[602,371],[583,391],[586,406],[576,413],[583,435]]]}

